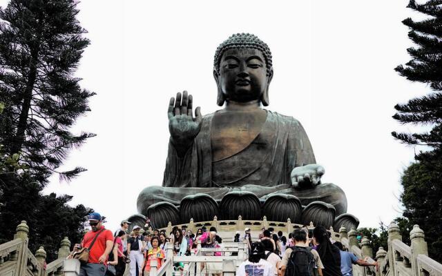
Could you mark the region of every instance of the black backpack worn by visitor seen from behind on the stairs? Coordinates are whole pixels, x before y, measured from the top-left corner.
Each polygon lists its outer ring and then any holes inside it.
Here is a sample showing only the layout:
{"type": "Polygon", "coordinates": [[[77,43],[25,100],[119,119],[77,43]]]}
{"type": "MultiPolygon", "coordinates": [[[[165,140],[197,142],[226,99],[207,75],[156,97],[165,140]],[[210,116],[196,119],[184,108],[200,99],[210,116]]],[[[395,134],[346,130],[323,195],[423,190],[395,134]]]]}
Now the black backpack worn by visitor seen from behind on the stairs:
{"type": "Polygon", "coordinates": [[[314,276],[316,262],[311,248],[294,246],[291,250],[285,276],[314,276]]]}

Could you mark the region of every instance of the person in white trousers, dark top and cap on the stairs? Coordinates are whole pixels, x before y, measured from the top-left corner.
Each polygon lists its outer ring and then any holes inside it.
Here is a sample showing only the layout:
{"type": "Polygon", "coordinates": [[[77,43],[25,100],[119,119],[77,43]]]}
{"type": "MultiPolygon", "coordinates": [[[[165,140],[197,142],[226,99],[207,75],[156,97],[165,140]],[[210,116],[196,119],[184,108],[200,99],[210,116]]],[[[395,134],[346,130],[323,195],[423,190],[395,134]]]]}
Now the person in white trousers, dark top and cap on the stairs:
{"type": "Polygon", "coordinates": [[[144,260],[143,251],[146,248],[144,238],[140,235],[140,226],[133,226],[133,237],[127,240],[127,255],[131,259],[131,276],[138,276],[137,270],[142,271],[144,260]]]}

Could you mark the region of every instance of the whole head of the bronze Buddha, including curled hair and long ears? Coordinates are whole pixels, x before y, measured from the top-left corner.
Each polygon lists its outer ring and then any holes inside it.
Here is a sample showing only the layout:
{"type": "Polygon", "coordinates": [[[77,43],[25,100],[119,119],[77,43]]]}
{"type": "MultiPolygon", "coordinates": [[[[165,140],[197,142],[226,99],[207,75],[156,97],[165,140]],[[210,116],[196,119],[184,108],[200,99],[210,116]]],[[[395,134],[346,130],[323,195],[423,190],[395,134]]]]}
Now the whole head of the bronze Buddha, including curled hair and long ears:
{"type": "Polygon", "coordinates": [[[269,46],[253,34],[233,34],[216,49],[213,77],[218,106],[224,101],[254,100],[268,106],[273,77],[269,46]]]}

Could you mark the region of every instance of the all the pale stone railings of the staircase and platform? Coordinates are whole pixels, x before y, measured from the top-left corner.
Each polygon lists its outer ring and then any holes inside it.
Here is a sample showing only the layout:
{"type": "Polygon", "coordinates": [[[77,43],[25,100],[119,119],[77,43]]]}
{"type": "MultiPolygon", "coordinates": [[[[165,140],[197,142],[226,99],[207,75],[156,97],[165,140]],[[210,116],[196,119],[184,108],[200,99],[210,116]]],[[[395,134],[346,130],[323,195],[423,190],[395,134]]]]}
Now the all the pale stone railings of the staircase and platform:
{"type": "MultiPolygon", "coordinates": [[[[229,221],[218,221],[215,217],[213,221],[197,223],[191,220],[189,224],[180,224],[179,226],[183,225],[194,233],[202,226],[215,226],[223,238],[223,247],[220,249],[198,247],[197,253],[191,256],[177,257],[173,256],[173,248],[170,244],[167,248],[167,260],[164,266],[160,270],[151,270],[151,276],[200,276],[211,273],[201,270],[201,263],[217,264],[223,275],[233,276],[240,263],[247,259],[247,246],[241,242],[232,242],[236,231],[243,233],[245,227],[251,228],[252,238],[256,240],[263,226],[273,227],[276,231],[282,230],[285,235],[293,231],[294,228],[301,227],[298,224],[291,224],[290,219],[287,219],[287,222],[267,221],[266,218],[262,221],[249,221],[242,220],[241,217],[238,217],[238,220],[229,221]],[[215,250],[220,251],[222,256],[206,256],[204,254],[205,251],[215,250]],[[184,270],[174,272],[174,262],[184,263],[184,270]]],[[[307,228],[314,228],[314,226],[310,224],[307,228]]],[[[172,230],[171,224],[166,230],[172,230]]],[[[425,235],[417,225],[410,232],[411,244],[409,246],[402,242],[398,226],[394,223],[390,224],[388,226],[388,248],[379,248],[375,255],[367,237],[363,237],[361,243],[358,242],[354,228],[347,232],[347,228],[341,226],[338,233],[334,232],[333,228],[330,228],[330,231],[332,239],[342,242],[357,257],[361,259],[376,257],[379,264],[378,269],[354,266],[354,276],[442,276],[442,264],[428,257],[425,235]]],[[[79,262],[74,259],[66,259],[70,252],[68,238],[65,237],[61,241],[58,259],[46,265],[46,252],[43,247],[40,247],[35,255],[28,249],[28,233],[29,227],[26,225],[26,221],[21,221],[21,224],[17,226],[14,239],[6,244],[0,244],[0,276],[79,275],[79,262]]]]}

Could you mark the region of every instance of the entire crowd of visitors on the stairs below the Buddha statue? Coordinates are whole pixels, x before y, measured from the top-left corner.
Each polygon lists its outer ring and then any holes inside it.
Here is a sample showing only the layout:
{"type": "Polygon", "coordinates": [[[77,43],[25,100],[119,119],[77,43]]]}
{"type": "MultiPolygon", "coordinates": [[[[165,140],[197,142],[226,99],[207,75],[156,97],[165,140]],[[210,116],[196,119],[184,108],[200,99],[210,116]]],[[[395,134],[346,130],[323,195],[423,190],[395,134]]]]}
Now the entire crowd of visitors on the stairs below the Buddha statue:
{"type": "MultiPolygon", "coordinates": [[[[160,269],[166,259],[169,244],[173,255],[184,256],[202,248],[220,248],[222,239],[215,227],[199,228],[196,233],[185,226],[175,226],[171,233],[154,229],[140,231],[123,220],[121,228],[112,233],[102,225],[102,216],[91,213],[88,217],[91,230],[80,244],[75,244],[72,257],[80,260],[80,276],[122,276],[129,270],[130,276],[149,275],[151,268],[160,269]]],[[[352,264],[376,266],[376,262],[358,259],[345,251],[343,244],[334,242],[324,227],[313,230],[297,228],[289,237],[273,228],[262,228],[258,240],[253,241],[251,229],[244,234],[237,232],[233,242],[244,242],[249,249],[249,259],[243,262],[236,275],[239,276],[352,276],[352,264]]],[[[209,250],[202,255],[221,256],[221,252],[209,250]],[[205,253],[205,254],[204,254],[205,253]]],[[[184,270],[184,264],[175,262],[175,271],[184,270]]],[[[200,263],[202,275],[222,275],[222,263],[200,263]]],[[[126,273],[127,274],[127,273],[126,273]]]]}

